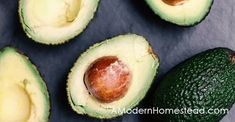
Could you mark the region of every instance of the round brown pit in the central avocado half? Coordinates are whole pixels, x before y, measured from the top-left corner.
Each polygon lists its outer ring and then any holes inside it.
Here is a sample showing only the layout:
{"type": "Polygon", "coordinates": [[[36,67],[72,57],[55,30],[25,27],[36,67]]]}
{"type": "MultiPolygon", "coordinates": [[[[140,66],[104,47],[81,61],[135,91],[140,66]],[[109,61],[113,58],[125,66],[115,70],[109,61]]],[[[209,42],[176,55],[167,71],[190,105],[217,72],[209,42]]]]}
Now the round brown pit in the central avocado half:
{"type": "Polygon", "coordinates": [[[131,72],[116,56],[105,56],[88,67],[84,82],[97,100],[110,103],[125,96],[131,82],[131,72]]]}

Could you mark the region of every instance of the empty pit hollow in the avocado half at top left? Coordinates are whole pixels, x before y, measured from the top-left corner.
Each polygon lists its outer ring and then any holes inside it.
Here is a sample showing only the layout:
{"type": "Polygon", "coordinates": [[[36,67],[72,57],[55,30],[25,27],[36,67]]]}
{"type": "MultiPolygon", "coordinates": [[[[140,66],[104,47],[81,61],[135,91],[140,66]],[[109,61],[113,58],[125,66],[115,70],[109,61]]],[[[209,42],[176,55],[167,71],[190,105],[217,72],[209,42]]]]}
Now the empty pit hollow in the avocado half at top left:
{"type": "Polygon", "coordinates": [[[34,0],[32,15],[37,25],[62,27],[72,23],[80,11],[81,0],[34,0]]]}

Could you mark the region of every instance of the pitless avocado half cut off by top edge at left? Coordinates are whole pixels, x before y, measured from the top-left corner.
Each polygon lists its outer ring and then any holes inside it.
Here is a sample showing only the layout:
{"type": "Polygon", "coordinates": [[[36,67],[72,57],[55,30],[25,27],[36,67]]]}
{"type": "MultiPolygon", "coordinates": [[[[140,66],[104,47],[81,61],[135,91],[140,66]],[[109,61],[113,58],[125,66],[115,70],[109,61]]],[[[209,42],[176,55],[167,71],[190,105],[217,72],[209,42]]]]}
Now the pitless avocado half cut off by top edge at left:
{"type": "Polygon", "coordinates": [[[61,44],[80,34],[91,21],[99,0],[20,0],[26,34],[43,44],[61,44]]]}

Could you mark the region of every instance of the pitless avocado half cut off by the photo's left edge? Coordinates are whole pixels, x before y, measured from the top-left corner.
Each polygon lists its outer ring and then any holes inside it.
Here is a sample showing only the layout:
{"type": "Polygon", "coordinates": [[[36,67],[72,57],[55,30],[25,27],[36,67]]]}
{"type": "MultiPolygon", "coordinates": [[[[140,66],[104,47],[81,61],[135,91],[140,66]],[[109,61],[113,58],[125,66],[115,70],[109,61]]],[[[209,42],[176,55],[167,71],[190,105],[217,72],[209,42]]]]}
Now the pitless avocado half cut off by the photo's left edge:
{"type": "Polygon", "coordinates": [[[36,67],[15,48],[0,51],[0,121],[47,122],[49,95],[36,67]]]}

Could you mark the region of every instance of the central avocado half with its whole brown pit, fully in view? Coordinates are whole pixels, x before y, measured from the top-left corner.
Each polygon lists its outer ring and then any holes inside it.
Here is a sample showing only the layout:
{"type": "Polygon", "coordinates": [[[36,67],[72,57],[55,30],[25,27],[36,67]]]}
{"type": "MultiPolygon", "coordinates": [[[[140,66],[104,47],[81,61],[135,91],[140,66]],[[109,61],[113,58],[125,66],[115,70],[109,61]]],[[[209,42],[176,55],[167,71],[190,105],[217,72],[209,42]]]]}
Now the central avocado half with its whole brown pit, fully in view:
{"type": "Polygon", "coordinates": [[[158,66],[158,57],[142,36],[126,34],[97,43],[69,73],[69,103],[78,114],[120,116],[144,98],[158,66]]]}

